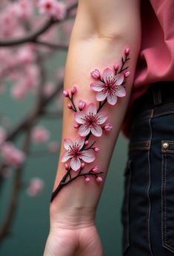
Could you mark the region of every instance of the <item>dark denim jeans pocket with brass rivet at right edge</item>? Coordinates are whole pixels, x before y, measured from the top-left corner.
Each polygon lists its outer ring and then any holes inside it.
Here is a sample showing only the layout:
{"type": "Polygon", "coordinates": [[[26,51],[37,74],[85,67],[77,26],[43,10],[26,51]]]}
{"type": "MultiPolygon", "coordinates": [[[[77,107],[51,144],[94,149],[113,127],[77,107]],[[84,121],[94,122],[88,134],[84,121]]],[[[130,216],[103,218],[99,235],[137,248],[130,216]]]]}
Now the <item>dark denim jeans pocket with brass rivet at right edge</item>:
{"type": "Polygon", "coordinates": [[[162,245],[174,253],[174,141],[161,141],[162,245]]]}

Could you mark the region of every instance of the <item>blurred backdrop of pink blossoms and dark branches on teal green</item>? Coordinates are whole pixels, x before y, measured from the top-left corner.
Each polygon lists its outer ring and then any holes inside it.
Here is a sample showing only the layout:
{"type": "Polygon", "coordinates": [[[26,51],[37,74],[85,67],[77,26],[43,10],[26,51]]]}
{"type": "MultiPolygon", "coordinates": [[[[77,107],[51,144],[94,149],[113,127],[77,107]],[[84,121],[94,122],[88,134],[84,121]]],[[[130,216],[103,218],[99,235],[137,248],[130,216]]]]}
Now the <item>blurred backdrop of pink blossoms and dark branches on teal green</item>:
{"type": "MultiPolygon", "coordinates": [[[[75,15],[74,0],[0,1],[1,256],[44,252],[75,15]]],[[[121,255],[126,158],[127,141],[120,135],[96,216],[106,256],[121,255]]]]}

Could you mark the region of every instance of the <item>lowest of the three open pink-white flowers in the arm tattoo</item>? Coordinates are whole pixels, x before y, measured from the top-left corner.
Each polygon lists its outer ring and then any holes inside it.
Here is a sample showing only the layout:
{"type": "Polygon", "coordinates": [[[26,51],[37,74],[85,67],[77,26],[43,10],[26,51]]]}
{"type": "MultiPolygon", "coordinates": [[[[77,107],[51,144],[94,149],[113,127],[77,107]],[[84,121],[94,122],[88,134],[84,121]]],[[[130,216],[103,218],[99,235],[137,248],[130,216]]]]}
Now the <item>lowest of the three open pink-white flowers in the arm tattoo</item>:
{"type": "Polygon", "coordinates": [[[73,142],[70,138],[64,139],[65,152],[61,158],[62,162],[70,159],[70,167],[73,170],[78,170],[81,167],[81,160],[86,163],[91,163],[95,160],[93,150],[81,150],[84,146],[84,138],[78,137],[73,142]]]}

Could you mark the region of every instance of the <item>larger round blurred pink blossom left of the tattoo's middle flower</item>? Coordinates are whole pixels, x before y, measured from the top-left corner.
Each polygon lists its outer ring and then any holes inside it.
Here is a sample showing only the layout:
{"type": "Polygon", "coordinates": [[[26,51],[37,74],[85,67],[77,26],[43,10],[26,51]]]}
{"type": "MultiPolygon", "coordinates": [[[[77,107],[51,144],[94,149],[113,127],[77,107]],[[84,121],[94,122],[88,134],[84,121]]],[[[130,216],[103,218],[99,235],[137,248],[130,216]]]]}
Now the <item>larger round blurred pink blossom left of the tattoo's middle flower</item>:
{"type": "Polygon", "coordinates": [[[50,132],[48,129],[41,126],[33,127],[31,136],[35,143],[43,143],[50,138],[50,132]]]}

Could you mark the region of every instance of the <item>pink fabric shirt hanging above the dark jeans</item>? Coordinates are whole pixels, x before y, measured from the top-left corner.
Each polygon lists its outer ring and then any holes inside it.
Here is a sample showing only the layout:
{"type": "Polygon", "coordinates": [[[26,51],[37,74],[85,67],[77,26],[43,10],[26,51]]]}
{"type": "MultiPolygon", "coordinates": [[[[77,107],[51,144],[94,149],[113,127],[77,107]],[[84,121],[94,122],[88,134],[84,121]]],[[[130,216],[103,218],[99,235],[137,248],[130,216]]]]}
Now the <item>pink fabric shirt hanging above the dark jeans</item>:
{"type": "Polygon", "coordinates": [[[141,1],[141,50],[122,130],[129,136],[131,107],[150,83],[174,80],[174,0],[141,1]]]}

